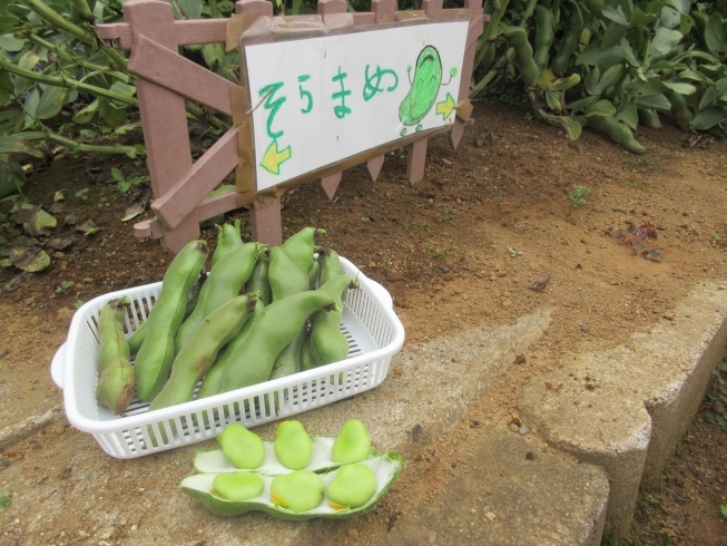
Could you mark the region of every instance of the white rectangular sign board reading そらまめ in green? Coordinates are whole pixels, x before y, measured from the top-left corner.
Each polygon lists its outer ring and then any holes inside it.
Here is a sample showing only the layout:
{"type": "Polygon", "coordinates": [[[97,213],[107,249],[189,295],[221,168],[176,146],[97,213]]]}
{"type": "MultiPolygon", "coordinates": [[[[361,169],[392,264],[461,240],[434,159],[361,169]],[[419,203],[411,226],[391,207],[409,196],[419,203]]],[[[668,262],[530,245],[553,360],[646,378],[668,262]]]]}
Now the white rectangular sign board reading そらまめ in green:
{"type": "Polygon", "coordinates": [[[243,40],[256,189],[454,121],[469,21],[243,40]]]}

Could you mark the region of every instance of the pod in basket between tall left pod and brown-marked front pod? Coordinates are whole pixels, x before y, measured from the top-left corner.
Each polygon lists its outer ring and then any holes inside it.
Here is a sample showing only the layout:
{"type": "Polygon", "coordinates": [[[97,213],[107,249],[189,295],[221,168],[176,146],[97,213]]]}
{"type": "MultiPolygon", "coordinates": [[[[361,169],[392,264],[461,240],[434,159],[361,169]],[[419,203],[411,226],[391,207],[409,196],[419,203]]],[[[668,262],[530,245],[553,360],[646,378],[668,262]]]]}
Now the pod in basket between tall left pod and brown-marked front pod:
{"type": "Polygon", "coordinates": [[[235,298],[249,280],[255,262],[264,246],[247,243],[225,254],[209,272],[202,287],[199,303],[181,324],[174,340],[175,355],[189,343],[202,320],[224,303],[235,298]]]}

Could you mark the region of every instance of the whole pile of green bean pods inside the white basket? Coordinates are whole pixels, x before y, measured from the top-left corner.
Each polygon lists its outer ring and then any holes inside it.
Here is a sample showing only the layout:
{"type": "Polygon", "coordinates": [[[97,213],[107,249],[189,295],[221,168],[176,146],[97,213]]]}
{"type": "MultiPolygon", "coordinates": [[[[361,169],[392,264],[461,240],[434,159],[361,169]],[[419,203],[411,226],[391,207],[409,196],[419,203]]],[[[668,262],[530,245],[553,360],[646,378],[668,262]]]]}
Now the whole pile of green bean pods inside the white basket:
{"type": "Polygon", "coordinates": [[[199,381],[198,399],[347,358],[343,295],[358,283],[335,251],[315,246],[322,230],[304,227],[271,248],[243,243],[239,222],[217,230],[209,273],[207,243],[187,244],[128,339],[128,299],[101,310],[99,403],[120,415],[136,393],[156,410],[191,400],[199,381]]]}

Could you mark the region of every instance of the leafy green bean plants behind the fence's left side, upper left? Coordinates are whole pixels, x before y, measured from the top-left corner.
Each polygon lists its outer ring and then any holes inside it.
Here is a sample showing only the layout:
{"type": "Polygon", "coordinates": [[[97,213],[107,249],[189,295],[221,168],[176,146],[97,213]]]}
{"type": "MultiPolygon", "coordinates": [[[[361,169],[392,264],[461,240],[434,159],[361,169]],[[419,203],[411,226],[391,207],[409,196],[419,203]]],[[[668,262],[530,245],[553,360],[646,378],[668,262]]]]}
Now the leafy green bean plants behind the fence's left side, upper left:
{"type": "MultiPolygon", "coordinates": [[[[227,17],[230,0],[169,0],[176,18],[227,17]]],[[[89,1],[88,10],[72,0],[0,1],[0,157],[27,154],[42,157],[68,152],[144,155],[143,146],[119,144],[138,130],[139,113],[128,51],[105,47],[94,25],[122,20],[121,0],[89,1]]],[[[217,74],[235,79],[238,57],[219,45],[190,46],[202,50],[217,74]]],[[[222,131],[228,123],[208,116],[197,105],[187,111],[195,123],[222,131]]],[[[0,162],[0,172],[19,173],[16,162],[0,162]]],[[[12,175],[12,187],[21,181],[12,175]]],[[[3,193],[7,184],[2,186],[3,193]]]]}

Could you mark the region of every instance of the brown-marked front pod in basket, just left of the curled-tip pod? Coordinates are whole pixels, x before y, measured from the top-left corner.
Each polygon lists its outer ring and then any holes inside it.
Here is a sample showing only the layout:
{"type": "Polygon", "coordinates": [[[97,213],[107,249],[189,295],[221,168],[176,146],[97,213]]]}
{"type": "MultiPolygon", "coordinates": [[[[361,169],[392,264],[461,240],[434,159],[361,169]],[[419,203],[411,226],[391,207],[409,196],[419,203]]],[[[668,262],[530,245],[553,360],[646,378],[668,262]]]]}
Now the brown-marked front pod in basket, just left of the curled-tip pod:
{"type": "Polygon", "coordinates": [[[171,376],[149,404],[149,411],[191,400],[197,382],[207,373],[219,350],[229,342],[255,309],[255,298],[237,296],[209,313],[171,365],[171,376]]]}

